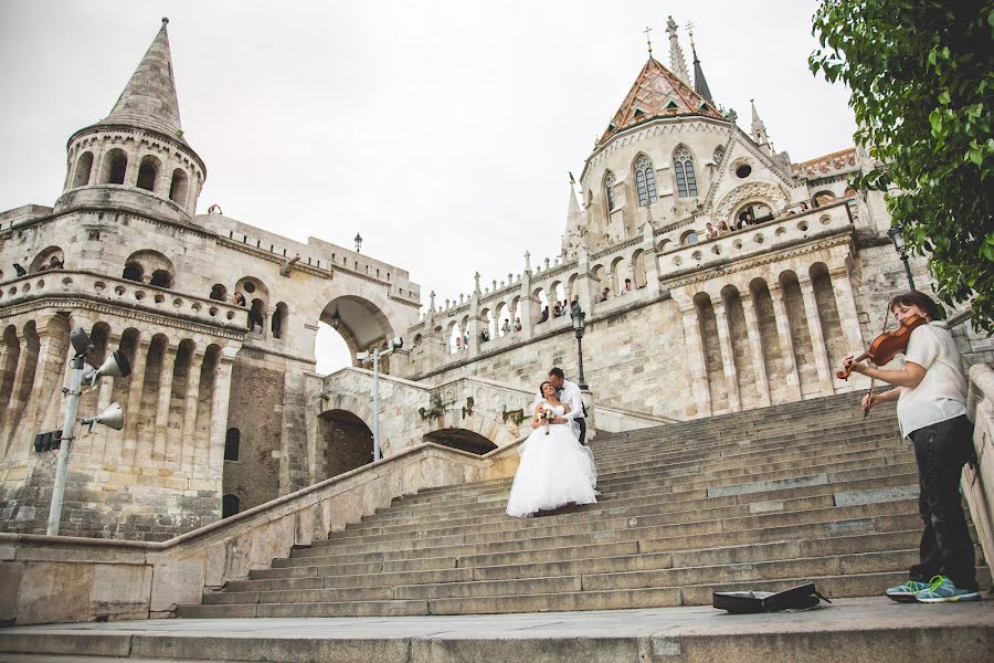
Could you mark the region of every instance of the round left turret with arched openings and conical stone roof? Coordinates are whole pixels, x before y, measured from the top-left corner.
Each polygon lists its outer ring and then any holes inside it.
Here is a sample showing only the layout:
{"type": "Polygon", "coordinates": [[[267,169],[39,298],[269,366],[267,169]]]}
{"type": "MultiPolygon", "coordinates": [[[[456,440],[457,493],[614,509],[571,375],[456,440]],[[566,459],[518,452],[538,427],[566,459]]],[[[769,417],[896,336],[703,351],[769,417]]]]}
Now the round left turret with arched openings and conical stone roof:
{"type": "Polygon", "coordinates": [[[73,134],[55,210],[114,204],[190,222],[207,168],[180,124],[167,24],[109,115],[73,134]]]}

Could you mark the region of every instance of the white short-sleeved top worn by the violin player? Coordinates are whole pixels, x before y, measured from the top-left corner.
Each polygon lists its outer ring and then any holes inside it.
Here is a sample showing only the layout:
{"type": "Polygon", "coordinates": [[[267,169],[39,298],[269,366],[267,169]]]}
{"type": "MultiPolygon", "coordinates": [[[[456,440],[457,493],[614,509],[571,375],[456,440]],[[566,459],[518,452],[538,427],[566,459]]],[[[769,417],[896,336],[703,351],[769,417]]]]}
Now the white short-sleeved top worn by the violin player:
{"type": "Polygon", "coordinates": [[[966,413],[966,377],[963,358],[949,327],[941,320],[922,325],[911,333],[905,361],[913,361],[926,375],[911,389],[901,387],[898,421],[907,438],[918,429],[966,413]]]}

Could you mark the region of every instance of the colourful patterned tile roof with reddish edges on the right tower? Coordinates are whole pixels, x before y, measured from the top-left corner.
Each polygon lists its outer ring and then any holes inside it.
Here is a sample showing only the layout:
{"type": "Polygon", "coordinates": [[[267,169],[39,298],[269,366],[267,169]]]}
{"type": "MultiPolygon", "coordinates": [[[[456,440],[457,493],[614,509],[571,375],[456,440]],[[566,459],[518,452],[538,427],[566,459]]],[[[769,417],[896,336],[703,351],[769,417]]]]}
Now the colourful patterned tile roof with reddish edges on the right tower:
{"type": "Polygon", "coordinates": [[[628,127],[656,117],[700,115],[726,119],[721,113],[697,94],[689,85],[659,62],[649,56],[638,77],[614,114],[607,130],[601,136],[604,143],[613,135],[628,127]]]}

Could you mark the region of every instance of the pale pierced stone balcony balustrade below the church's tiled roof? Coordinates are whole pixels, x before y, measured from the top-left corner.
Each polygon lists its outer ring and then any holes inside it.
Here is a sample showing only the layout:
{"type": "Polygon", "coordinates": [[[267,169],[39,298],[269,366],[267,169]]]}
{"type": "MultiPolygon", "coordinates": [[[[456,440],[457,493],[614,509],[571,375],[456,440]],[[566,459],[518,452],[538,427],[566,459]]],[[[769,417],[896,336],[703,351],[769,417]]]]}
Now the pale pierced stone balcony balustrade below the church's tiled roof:
{"type": "Polygon", "coordinates": [[[849,207],[845,201],[839,201],[803,214],[781,217],[761,225],[668,251],[659,255],[659,272],[662,278],[668,280],[689,271],[704,270],[730,260],[769,253],[800,241],[844,232],[852,227],[849,207]]]}

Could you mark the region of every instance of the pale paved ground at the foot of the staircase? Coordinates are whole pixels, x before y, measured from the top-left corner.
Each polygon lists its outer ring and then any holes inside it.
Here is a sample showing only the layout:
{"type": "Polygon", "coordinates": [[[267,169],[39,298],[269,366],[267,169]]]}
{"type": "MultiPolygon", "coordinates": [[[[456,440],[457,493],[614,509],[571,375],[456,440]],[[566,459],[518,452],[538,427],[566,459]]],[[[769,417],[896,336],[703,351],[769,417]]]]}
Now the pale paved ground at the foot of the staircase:
{"type": "MultiPolygon", "coordinates": [[[[592,612],[556,612],[531,614],[494,614],[457,617],[395,617],[395,618],[336,618],[336,619],[212,619],[212,620],[148,620],[108,623],[51,624],[0,629],[0,652],[4,643],[22,640],[28,635],[35,642],[54,641],[60,636],[91,635],[110,639],[166,639],[169,641],[202,639],[226,640],[229,645],[239,640],[282,641],[430,641],[436,645],[457,645],[457,641],[503,643],[515,641],[558,641],[600,639],[611,641],[642,641],[653,651],[652,660],[677,654],[681,643],[701,638],[726,640],[731,643],[738,636],[791,639],[817,635],[845,636],[850,641],[888,638],[901,633],[956,629],[974,633],[994,632],[994,600],[975,603],[898,604],[886,598],[840,599],[833,604],[806,612],[731,615],[713,608],[658,608],[644,610],[612,610],[592,612]],[[732,636],[731,639],[729,636],[732,636]]],[[[990,638],[986,638],[990,643],[990,638]]],[[[303,644],[303,642],[302,642],[303,644]]],[[[979,643],[980,644],[980,643],[979,643]]],[[[984,648],[990,644],[982,645],[984,648]]],[[[25,651],[21,648],[20,651],[25,651]]],[[[186,649],[186,648],[183,648],[186,649]]],[[[29,651],[39,651],[32,649],[29,651]]],[[[74,650],[63,650],[70,654],[74,650]]],[[[129,649],[133,663],[144,660],[141,651],[129,649]]],[[[175,650],[170,650],[175,651],[175,650]]],[[[983,651],[983,650],[982,650],[983,651]]],[[[988,651],[988,650],[987,650],[988,651]]],[[[189,653],[177,659],[189,659],[189,653]]],[[[165,652],[163,652],[165,654],[165,652]]],[[[125,653],[124,655],[128,655],[125,653]]],[[[162,655],[162,654],[158,654],[162,655]]],[[[169,656],[171,657],[171,656],[169,656]]],[[[195,656],[194,656],[195,657],[195,656]]],[[[204,656],[208,657],[208,656],[204,656]]],[[[35,663],[39,661],[97,661],[89,656],[44,656],[31,654],[0,654],[0,660],[35,663]]],[[[161,660],[161,659],[160,659],[161,660]]],[[[252,660],[252,659],[250,659],[252,660]]]]}

